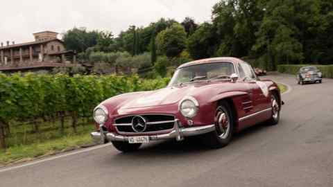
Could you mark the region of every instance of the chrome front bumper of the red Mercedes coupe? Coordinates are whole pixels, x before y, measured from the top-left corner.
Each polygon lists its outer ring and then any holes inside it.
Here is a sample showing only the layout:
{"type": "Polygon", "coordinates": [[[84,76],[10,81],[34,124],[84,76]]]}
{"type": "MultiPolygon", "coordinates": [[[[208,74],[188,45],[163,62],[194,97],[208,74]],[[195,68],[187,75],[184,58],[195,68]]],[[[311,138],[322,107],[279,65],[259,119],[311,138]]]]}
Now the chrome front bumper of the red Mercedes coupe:
{"type": "MultiPolygon", "coordinates": [[[[92,132],[90,135],[96,143],[105,143],[109,141],[128,141],[129,136],[114,134],[113,132],[103,131],[103,125],[100,126],[100,132],[92,132]]],[[[176,139],[182,141],[187,136],[196,136],[206,134],[215,130],[215,125],[205,125],[200,127],[181,127],[178,120],[175,121],[173,130],[167,134],[148,135],[149,140],[176,139]]],[[[140,135],[138,135],[140,136],[140,135]]]]}

